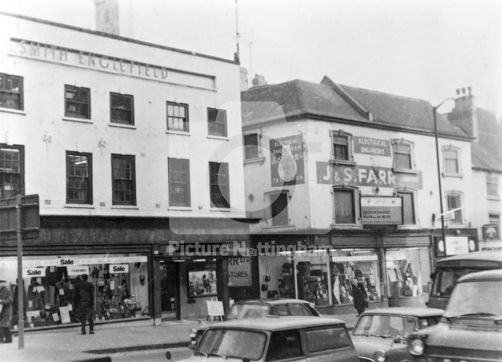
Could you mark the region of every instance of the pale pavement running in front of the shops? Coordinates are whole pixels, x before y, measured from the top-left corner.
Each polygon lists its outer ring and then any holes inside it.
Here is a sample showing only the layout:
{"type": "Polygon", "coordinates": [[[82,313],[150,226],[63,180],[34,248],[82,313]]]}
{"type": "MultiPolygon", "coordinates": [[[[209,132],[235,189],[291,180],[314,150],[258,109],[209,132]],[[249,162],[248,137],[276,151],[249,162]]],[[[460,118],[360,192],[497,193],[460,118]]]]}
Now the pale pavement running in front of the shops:
{"type": "MultiPolygon", "coordinates": [[[[329,314],[321,318],[338,318],[352,329],[356,314],[329,314]]],[[[188,346],[190,328],[211,321],[163,321],[152,325],[152,319],[97,324],[94,334],[82,335],[80,327],[25,331],[24,348],[18,348],[18,337],[12,343],[0,343],[0,360],[8,361],[85,361],[111,353],[141,349],[166,349],[188,346]]],[[[88,328],[87,328],[88,331],[88,328]]],[[[167,361],[167,359],[166,359],[167,361]]]]}

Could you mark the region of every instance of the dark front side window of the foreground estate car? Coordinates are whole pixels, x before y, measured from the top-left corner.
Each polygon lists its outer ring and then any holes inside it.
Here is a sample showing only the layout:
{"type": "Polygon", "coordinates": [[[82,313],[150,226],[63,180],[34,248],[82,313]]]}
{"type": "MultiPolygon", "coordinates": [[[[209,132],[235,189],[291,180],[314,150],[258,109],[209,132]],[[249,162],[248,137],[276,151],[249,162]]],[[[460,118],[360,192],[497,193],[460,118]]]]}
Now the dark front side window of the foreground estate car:
{"type": "Polygon", "coordinates": [[[280,330],[272,332],[266,361],[303,356],[298,330],[280,330]]]}

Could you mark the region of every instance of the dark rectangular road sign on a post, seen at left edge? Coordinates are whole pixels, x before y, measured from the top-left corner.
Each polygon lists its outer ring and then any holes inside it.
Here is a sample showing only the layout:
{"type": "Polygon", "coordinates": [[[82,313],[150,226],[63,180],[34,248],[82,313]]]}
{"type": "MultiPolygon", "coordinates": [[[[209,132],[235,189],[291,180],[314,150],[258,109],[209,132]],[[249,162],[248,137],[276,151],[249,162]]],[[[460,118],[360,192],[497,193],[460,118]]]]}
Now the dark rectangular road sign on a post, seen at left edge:
{"type": "Polygon", "coordinates": [[[38,195],[0,199],[0,240],[18,244],[18,349],[25,347],[23,300],[23,239],[38,238],[40,207],[38,195]]]}

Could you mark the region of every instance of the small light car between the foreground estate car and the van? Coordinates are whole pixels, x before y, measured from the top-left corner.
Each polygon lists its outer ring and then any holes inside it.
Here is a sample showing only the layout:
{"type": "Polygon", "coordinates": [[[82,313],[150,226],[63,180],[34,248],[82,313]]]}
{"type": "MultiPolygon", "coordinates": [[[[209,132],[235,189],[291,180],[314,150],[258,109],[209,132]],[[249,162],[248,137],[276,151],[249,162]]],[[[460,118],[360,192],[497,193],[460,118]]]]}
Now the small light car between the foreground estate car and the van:
{"type": "Polygon", "coordinates": [[[359,316],[352,341],[361,360],[401,362],[411,360],[406,337],[439,322],[443,309],[393,307],[367,310],[359,316]]]}

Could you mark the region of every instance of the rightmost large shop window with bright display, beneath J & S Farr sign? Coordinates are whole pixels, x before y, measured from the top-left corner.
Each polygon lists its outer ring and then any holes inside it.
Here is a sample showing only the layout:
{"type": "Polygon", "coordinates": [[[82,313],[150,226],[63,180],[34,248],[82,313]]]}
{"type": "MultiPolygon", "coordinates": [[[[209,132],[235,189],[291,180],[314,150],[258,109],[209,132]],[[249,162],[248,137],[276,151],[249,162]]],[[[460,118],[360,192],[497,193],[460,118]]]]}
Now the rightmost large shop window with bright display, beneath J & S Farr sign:
{"type": "Polygon", "coordinates": [[[428,248],[388,249],[386,269],[389,298],[415,297],[428,292],[431,271],[428,248]]]}

